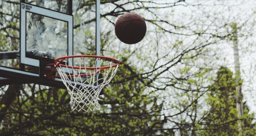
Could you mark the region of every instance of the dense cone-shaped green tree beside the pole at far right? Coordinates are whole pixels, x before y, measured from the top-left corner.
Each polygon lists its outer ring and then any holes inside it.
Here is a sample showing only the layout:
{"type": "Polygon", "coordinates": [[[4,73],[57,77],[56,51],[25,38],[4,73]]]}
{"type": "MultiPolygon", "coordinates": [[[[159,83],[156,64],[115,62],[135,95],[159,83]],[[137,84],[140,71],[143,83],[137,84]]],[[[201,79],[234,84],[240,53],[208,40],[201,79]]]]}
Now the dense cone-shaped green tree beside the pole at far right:
{"type": "Polygon", "coordinates": [[[240,84],[236,84],[235,77],[233,77],[232,71],[228,68],[221,67],[218,70],[216,84],[213,85],[208,93],[208,98],[206,98],[206,102],[211,108],[207,111],[204,119],[207,125],[203,135],[239,135],[237,120],[246,120],[244,129],[248,133],[244,135],[255,135],[255,124],[252,124],[253,116],[248,114],[248,109],[244,109],[247,110],[247,115],[242,118],[237,117],[236,86],[240,84]]]}

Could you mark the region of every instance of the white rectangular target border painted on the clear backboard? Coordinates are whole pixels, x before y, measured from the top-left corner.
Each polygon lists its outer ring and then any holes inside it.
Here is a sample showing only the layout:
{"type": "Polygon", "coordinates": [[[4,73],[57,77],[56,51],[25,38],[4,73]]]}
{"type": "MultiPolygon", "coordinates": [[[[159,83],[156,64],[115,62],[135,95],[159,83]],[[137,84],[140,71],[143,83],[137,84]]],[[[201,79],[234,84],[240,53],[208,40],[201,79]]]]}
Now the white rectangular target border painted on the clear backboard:
{"type": "MultiPolygon", "coordinates": [[[[40,58],[36,59],[33,57],[29,57],[26,54],[26,14],[33,13],[38,14],[40,16],[45,16],[48,18],[56,19],[59,21],[64,21],[67,23],[67,55],[73,55],[73,15],[65,14],[62,12],[57,12],[52,9],[47,9],[44,7],[39,7],[36,5],[31,5],[29,3],[21,2],[20,3],[20,62],[22,64],[30,65],[30,66],[40,66],[40,58]]],[[[70,60],[69,66],[73,66],[73,59],[70,60]]],[[[52,60],[53,63],[53,60],[52,60]]]]}

